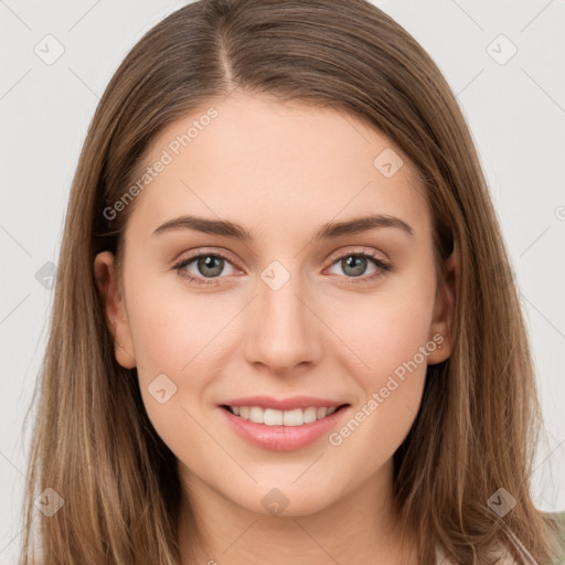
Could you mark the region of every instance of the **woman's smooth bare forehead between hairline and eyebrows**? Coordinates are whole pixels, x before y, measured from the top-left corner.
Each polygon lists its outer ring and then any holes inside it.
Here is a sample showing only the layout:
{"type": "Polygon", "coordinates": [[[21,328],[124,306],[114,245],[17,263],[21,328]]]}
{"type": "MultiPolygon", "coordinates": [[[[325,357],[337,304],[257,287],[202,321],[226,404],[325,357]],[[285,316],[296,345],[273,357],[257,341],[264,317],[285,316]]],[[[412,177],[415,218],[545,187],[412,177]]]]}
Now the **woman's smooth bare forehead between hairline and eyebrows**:
{"type": "Polygon", "coordinates": [[[289,221],[367,213],[399,216],[416,231],[429,223],[412,164],[383,134],[337,108],[236,92],[169,125],[145,164],[151,178],[131,221],[148,227],[182,213],[279,233],[289,221]]]}

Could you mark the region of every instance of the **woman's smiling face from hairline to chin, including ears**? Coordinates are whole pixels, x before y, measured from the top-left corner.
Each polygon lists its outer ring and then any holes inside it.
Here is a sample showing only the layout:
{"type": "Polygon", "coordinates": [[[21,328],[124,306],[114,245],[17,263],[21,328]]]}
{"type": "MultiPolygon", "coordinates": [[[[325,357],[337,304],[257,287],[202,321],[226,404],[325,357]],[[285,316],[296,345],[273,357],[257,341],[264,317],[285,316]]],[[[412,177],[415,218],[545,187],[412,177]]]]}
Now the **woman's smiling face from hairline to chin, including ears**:
{"type": "Polygon", "coordinates": [[[121,279],[108,252],[95,268],[185,484],[300,515],[390,478],[450,351],[411,163],[342,111],[234,93],[170,125],[147,164],[121,279]]]}

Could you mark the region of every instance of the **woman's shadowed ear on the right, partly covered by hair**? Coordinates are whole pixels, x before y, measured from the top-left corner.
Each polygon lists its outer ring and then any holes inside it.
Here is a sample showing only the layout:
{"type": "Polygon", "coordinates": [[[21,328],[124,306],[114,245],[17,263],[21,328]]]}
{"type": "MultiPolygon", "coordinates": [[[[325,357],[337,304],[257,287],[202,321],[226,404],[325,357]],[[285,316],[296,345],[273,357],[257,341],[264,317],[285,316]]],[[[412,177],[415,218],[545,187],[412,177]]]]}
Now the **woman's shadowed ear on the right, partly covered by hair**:
{"type": "Polygon", "coordinates": [[[454,242],[454,250],[446,259],[444,267],[443,281],[436,295],[434,305],[434,315],[429,328],[429,340],[437,343],[438,347],[428,355],[428,364],[435,365],[441,363],[451,355],[452,352],[452,322],[455,305],[459,288],[459,249],[454,242]],[[436,339],[434,339],[434,335],[436,339]],[[443,337],[443,341],[441,338],[443,337]],[[440,348],[439,348],[440,347],[440,348]]]}

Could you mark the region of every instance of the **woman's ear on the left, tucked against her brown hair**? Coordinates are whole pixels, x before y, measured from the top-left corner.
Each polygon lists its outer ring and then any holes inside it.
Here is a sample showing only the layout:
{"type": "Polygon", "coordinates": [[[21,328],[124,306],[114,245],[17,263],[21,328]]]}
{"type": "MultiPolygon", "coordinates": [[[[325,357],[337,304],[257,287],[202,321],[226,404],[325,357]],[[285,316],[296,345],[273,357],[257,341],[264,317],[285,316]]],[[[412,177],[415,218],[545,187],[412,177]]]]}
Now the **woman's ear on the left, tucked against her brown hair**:
{"type": "Polygon", "coordinates": [[[104,301],[106,320],[114,337],[116,361],[126,369],[132,369],[136,366],[134,343],[129,329],[126,303],[114,268],[114,254],[103,252],[96,255],[94,259],[94,273],[98,290],[104,301]]]}

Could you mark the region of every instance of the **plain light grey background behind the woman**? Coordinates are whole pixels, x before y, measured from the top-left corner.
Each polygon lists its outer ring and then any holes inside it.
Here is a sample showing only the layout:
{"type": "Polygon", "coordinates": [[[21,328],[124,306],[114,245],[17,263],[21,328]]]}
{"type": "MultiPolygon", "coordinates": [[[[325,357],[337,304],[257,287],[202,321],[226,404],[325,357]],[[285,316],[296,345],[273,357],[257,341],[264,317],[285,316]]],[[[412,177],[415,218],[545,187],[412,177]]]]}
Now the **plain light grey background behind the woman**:
{"type": "MultiPolygon", "coordinates": [[[[29,440],[21,426],[52,306],[49,263],[57,263],[86,129],[127,51],[183,3],[0,0],[0,564],[15,562],[20,541],[29,440]],[[49,34],[55,40],[44,40],[49,34]],[[34,52],[54,56],[57,43],[64,53],[52,64],[34,52]]],[[[540,445],[532,476],[535,501],[563,511],[565,0],[375,3],[430,53],[471,127],[539,374],[547,443],[540,445]],[[505,61],[512,45],[518,51],[505,61]]]]}

